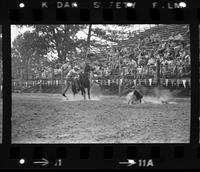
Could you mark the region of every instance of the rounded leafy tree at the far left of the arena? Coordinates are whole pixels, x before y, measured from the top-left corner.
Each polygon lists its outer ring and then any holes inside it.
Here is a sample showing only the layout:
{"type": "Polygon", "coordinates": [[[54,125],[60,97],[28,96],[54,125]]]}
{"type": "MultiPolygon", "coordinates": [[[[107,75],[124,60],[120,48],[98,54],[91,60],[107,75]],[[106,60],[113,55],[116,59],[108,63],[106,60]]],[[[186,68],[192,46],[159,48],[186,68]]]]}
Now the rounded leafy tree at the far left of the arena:
{"type": "Polygon", "coordinates": [[[25,77],[27,81],[32,69],[41,73],[45,62],[44,57],[47,54],[46,47],[47,45],[36,32],[27,31],[18,35],[12,48],[13,72],[20,70],[21,79],[25,77]]]}

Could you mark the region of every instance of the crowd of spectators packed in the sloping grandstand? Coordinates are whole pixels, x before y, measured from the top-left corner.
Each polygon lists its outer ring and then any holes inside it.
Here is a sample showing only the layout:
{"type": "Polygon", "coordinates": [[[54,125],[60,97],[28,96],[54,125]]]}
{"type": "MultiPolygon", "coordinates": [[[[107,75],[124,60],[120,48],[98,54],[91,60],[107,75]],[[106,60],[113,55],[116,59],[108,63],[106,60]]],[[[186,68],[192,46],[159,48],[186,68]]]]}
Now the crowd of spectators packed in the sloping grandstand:
{"type": "Polygon", "coordinates": [[[173,32],[167,39],[153,33],[131,47],[112,50],[109,62],[96,65],[102,76],[119,74],[136,79],[149,77],[183,78],[190,76],[190,44],[183,35],[173,32]]]}

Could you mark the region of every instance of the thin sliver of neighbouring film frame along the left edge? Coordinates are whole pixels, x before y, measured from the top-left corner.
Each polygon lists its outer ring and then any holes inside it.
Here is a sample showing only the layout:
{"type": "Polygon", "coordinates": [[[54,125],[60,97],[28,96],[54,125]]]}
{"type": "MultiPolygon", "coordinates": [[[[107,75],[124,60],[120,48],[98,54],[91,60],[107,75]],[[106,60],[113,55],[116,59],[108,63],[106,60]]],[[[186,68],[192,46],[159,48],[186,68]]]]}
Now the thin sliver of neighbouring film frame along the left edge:
{"type": "Polygon", "coordinates": [[[0,143],[2,143],[2,128],[3,128],[3,55],[2,55],[2,27],[0,25],[0,143]]]}

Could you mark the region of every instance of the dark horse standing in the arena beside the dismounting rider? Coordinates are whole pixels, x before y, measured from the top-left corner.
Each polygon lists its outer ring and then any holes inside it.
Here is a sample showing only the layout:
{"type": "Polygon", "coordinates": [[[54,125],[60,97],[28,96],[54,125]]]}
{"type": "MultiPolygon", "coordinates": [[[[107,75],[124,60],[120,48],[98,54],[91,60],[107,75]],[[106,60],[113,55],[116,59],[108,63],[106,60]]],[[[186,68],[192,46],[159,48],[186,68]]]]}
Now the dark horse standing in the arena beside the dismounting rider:
{"type": "Polygon", "coordinates": [[[94,69],[91,68],[89,65],[86,65],[84,68],[84,72],[79,73],[79,78],[74,79],[72,81],[72,92],[73,94],[77,94],[79,91],[81,91],[81,94],[84,97],[84,100],[86,100],[86,91],[85,88],[87,88],[88,93],[88,99],[90,99],[90,72],[94,69]]]}

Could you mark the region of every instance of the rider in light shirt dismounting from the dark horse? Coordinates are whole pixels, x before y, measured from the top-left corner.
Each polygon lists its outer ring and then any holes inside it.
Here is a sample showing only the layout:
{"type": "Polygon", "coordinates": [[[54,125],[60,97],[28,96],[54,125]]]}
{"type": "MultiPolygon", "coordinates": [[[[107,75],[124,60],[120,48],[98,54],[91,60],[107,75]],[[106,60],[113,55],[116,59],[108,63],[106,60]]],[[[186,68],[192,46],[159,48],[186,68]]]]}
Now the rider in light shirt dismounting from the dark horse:
{"type": "Polygon", "coordinates": [[[72,81],[75,82],[76,87],[78,88],[78,78],[79,78],[80,68],[75,65],[69,72],[67,73],[65,79],[67,81],[66,87],[63,89],[62,96],[66,97],[65,93],[69,89],[72,81]]]}

